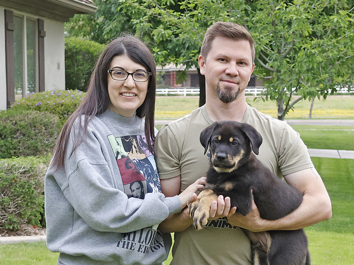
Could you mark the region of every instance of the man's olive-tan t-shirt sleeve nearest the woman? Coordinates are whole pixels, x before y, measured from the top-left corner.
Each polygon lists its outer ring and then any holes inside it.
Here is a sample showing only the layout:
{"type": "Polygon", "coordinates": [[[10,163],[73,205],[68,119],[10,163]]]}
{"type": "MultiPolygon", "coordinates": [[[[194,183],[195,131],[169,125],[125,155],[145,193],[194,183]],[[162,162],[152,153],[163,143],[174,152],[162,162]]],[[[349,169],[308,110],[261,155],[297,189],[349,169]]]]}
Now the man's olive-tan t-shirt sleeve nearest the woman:
{"type": "Polygon", "coordinates": [[[160,179],[169,179],[181,174],[180,150],[177,137],[168,125],[163,126],[156,135],[154,150],[157,171],[160,179]]]}

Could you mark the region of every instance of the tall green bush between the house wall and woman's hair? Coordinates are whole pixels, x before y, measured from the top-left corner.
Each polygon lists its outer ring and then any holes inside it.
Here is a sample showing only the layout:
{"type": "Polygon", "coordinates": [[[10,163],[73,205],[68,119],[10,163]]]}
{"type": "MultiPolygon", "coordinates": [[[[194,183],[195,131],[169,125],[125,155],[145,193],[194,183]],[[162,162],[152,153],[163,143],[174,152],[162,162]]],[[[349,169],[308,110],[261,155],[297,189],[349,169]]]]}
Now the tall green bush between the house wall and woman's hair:
{"type": "Polygon", "coordinates": [[[106,45],[78,37],[65,39],[65,87],[86,91],[99,55],[106,45]]]}

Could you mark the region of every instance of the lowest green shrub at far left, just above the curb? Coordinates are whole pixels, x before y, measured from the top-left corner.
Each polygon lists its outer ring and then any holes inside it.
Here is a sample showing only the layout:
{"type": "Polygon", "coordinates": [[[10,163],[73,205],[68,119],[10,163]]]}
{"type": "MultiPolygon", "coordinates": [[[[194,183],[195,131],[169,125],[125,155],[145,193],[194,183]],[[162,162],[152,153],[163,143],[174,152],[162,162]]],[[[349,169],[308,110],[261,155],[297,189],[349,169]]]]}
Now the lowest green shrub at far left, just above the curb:
{"type": "Polygon", "coordinates": [[[41,226],[49,161],[50,155],[0,159],[0,232],[22,224],[41,226]]]}

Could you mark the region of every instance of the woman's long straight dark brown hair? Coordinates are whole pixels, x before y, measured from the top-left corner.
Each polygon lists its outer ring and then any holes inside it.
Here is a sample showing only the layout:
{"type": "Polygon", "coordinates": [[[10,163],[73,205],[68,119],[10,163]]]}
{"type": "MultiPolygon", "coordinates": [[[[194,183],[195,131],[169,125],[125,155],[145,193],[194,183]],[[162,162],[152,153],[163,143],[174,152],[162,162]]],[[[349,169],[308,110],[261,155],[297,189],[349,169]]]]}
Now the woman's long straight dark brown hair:
{"type": "MultiPolygon", "coordinates": [[[[74,122],[79,119],[78,134],[75,133],[73,139],[73,149],[70,156],[84,141],[87,133],[89,120],[105,112],[110,104],[107,86],[107,70],[113,57],[126,54],[134,62],[143,65],[148,72],[152,73],[148,80],[148,93],[142,106],[138,107],[136,114],[138,117],[145,117],[145,134],[147,137],[148,148],[152,152],[151,141],[155,139],[154,133],[154,113],[155,113],[155,95],[156,95],[156,67],[148,47],[139,39],[125,35],[113,40],[97,60],[95,69],[91,75],[89,87],[86,96],[80,106],[72,113],[64,124],[57,144],[54,149],[51,168],[64,166],[65,154],[67,152],[67,143],[69,134],[74,122]],[[82,122],[81,119],[84,119],[82,122]]],[[[74,134],[73,134],[74,135],[74,134]]]]}

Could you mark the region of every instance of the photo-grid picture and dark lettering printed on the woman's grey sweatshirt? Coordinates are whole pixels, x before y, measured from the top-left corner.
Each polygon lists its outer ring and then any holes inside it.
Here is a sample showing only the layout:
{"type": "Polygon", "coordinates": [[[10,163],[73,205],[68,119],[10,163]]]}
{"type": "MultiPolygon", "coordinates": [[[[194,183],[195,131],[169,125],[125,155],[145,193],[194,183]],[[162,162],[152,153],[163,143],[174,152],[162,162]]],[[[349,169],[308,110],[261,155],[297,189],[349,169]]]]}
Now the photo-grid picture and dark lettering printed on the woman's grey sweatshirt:
{"type": "MultiPolygon", "coordinates": [[[[155,159],[148,150],[145,135],[114,137],[108,135],[119,172],[128,197],[144,199],[147,192],[161,192],[155,159]]],[[[117,242],[118,248],[141,254],[164,250],[164,241],[157,226],[123,233],[117,242]]]]}

